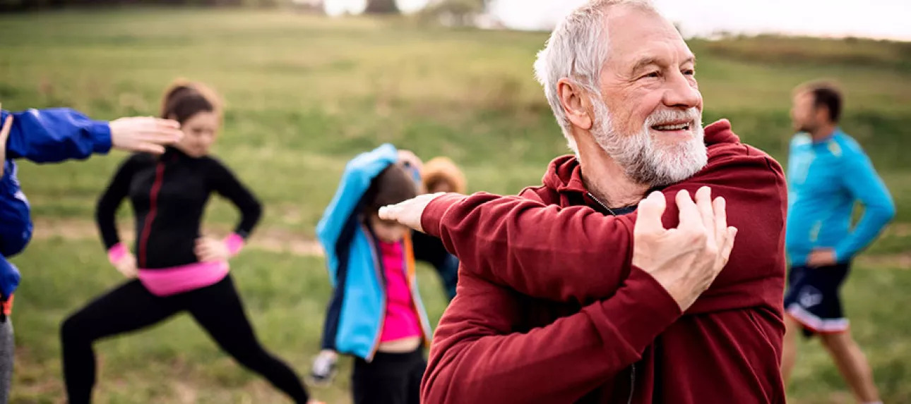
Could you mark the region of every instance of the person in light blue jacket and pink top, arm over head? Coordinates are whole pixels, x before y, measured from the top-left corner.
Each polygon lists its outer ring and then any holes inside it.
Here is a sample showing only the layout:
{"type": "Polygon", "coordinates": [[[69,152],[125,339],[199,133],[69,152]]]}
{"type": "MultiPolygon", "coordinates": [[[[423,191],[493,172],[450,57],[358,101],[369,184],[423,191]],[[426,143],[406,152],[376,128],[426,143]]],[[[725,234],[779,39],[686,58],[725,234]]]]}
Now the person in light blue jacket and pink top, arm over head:
{"type": "Polygon", "coordinates": [[[410,153],[392,145],[354,157],[316,227],[334,291],[313,376],[336,353],[354,357],[353,402],[418,404],[430,325],[418,294],[410,232],[379,207],[417,195],[410,153]]]}

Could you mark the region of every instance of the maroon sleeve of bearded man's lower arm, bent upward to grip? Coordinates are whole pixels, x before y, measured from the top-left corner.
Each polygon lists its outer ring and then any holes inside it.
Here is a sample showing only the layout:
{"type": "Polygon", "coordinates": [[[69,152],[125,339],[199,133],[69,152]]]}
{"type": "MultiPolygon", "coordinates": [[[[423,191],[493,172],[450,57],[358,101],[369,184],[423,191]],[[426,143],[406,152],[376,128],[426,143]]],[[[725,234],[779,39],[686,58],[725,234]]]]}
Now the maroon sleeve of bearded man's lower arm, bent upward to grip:
{"type": "Polygon", "coordinates": [[[681,316],[639,268],[609,299],[543,327],[515,329],[526,304],[508,288],[463,274],[436,328],[421,401],[575,402],[640,360],[681,316]]]}

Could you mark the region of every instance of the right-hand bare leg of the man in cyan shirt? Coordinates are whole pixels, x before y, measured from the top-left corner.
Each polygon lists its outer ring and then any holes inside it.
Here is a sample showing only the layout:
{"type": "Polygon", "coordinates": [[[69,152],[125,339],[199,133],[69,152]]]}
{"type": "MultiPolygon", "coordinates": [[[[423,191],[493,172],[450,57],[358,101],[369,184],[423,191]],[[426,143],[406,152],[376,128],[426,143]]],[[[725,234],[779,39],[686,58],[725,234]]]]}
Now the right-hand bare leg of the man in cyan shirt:
{"type": "Polygon", "coordinates": [[[873,383],[873,370],[870,369],[864,352],[857,346],[854,338],[851,338],[851,332],[845,330],[822,334],[820,337],[855,398],[862,403],[878,402],[879,391],[873,383]]]}

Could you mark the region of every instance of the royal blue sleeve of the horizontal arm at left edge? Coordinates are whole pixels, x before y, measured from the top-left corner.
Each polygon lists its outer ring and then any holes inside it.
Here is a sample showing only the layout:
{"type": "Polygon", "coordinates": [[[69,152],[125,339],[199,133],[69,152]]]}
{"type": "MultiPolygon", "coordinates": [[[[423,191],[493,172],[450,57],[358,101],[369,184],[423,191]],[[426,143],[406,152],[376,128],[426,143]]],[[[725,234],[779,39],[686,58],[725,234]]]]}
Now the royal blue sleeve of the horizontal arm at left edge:
{"type": "Polygon", "coordinates": [[[90,119],[70,108],[0,111],[0,122],[13,115],[13,127],[6,141],[6,157],[25,158],[36,163],[57,163],[85,159],[93,153],[107,153],[111,131],[106,121],[90,119]]]}

